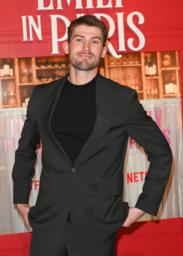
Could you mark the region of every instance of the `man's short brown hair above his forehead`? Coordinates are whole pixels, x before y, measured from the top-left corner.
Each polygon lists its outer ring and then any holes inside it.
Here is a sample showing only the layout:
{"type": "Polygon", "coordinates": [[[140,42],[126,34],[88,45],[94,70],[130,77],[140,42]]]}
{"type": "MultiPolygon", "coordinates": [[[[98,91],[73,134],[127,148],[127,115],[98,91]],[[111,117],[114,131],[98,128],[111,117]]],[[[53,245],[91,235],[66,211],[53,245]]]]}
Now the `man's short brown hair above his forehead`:
{"type": "Polygon", "coordinates": [[[77,18],[76,20],[74,20],[70,23],[70,25],[68,27],[68,43],[70,43],[74,28],[76,28],[80,25],[100,28],[102,31],[102,35],[103,35],[103,47],[105,46],[105,43],[107,41],[107,35],[108,35],[107,28],[106,28],[105,24],[103,23],[103,21],[99,20],[96,16],[90,15],[90,14],[80,16],[79,18],[77,18]]]}

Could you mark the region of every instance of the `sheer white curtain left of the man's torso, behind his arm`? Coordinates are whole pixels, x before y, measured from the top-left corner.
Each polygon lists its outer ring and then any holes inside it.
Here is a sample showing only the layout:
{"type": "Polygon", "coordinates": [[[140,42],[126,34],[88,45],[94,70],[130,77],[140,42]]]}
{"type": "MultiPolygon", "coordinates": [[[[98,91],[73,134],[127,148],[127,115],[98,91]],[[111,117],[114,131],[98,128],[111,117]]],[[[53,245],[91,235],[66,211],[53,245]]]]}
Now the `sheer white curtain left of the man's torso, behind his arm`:
{"type": "MultiPolygon", "coordinates": [[[[0,234],[31,231],[22,220],[13,205],[13,181],[11,177],[15,161],[15,150],[18,147],[22,125],[26,118],[27,108],[0,109],[0,234]]],[[[36,174],[33,180],[39,180],[41,157],[38,150],[36,174]]],[[[38,195],[38,182],[32,182],[30,204],[35,204],[38,195]],[[35,184],[34,184],[35,183],[35,184]]]]}

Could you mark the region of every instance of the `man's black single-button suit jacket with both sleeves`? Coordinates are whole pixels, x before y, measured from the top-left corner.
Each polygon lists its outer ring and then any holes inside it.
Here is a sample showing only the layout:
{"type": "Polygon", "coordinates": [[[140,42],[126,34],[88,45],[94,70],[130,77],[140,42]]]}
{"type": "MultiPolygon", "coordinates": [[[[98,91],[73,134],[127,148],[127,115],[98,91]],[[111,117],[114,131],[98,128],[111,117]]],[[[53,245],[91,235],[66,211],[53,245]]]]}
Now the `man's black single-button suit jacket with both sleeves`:
{"type": "Polygon", "coordinates": [[[15,153],[14,203],[28,204],[37,159],[35,149],[41,138],[42,171],[29,222],[37,235],[57,242],[69,211],[78,242],[89,246],[109,239],[127,218],[128,203],[122,202],[122,196],[128,137],[144,148],[150,161],[143,192],[136,204],[150,214],[157,214],[172,154],[162,132],[139,104],[136,91],[98,74],[96,122],[72,165],[50,129],[65,79],[35,86],[32,91],[15,153]]]}

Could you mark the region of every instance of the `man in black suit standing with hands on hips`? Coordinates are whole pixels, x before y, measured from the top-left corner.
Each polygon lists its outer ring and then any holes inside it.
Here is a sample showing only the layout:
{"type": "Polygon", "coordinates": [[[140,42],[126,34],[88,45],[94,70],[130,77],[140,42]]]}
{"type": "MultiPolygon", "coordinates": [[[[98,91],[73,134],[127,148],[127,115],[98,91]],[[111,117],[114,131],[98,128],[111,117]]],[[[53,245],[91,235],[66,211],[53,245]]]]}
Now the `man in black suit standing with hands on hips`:
{"type": "Polygon", "coordinates": [[[32,91],[12,174],[14,204],[33,229],[30,255],[113,256],[117,230],[145,212],[156,215],[161,203],[171,149],[136,91],[97,73],[106,40],[107,29],[95,16],[72,21],[63,43],[69,74],[32,91]],[[150,161],[132,208],[122,202],[129,136],[150,161]],[[30,208],[40,138],[42,172],[30,208]]]}

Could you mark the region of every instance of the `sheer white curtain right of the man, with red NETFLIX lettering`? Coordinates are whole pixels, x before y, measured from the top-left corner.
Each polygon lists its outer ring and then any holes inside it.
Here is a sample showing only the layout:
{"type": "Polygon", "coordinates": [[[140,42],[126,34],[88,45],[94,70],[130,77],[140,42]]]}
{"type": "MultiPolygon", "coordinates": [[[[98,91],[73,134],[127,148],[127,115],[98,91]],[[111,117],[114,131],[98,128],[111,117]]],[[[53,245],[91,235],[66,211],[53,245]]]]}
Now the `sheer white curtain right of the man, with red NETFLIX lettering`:
{"type": "MultiPolygon", "coordinates": [[[[173,165],[167,188],[160,205],[158,215],[151,216],[145,214],[139,221],[155,220],[182,217],[183,213],[183,136],[182,136],[182,110],[180,98],[164,98],[157,100],[141,100],[140,101],[147,114],[156,121],[159,128],[167,137],[173,153],[173,165]]],[[[149,162],[142,148],[138,148],[136,143],[130,140],[127,148],[125,160],[125,201],[129,202],[129,206],[135,205],[139,193],[142,192],[144,183],[143,172],[148,170],[149,162]],[[138,173],[135,180],[138,182],[130,182],[127,179],[128,173],[138,173]],[[141,174],[139,174],[141,172],[141,174]],[[141,180],[141,177],[143,180],[141,180]]],[[[128,175],[129,176],[129,175],[128,175]]],[[[133,175],[134,176],[134,175],[133,175]]]]}

